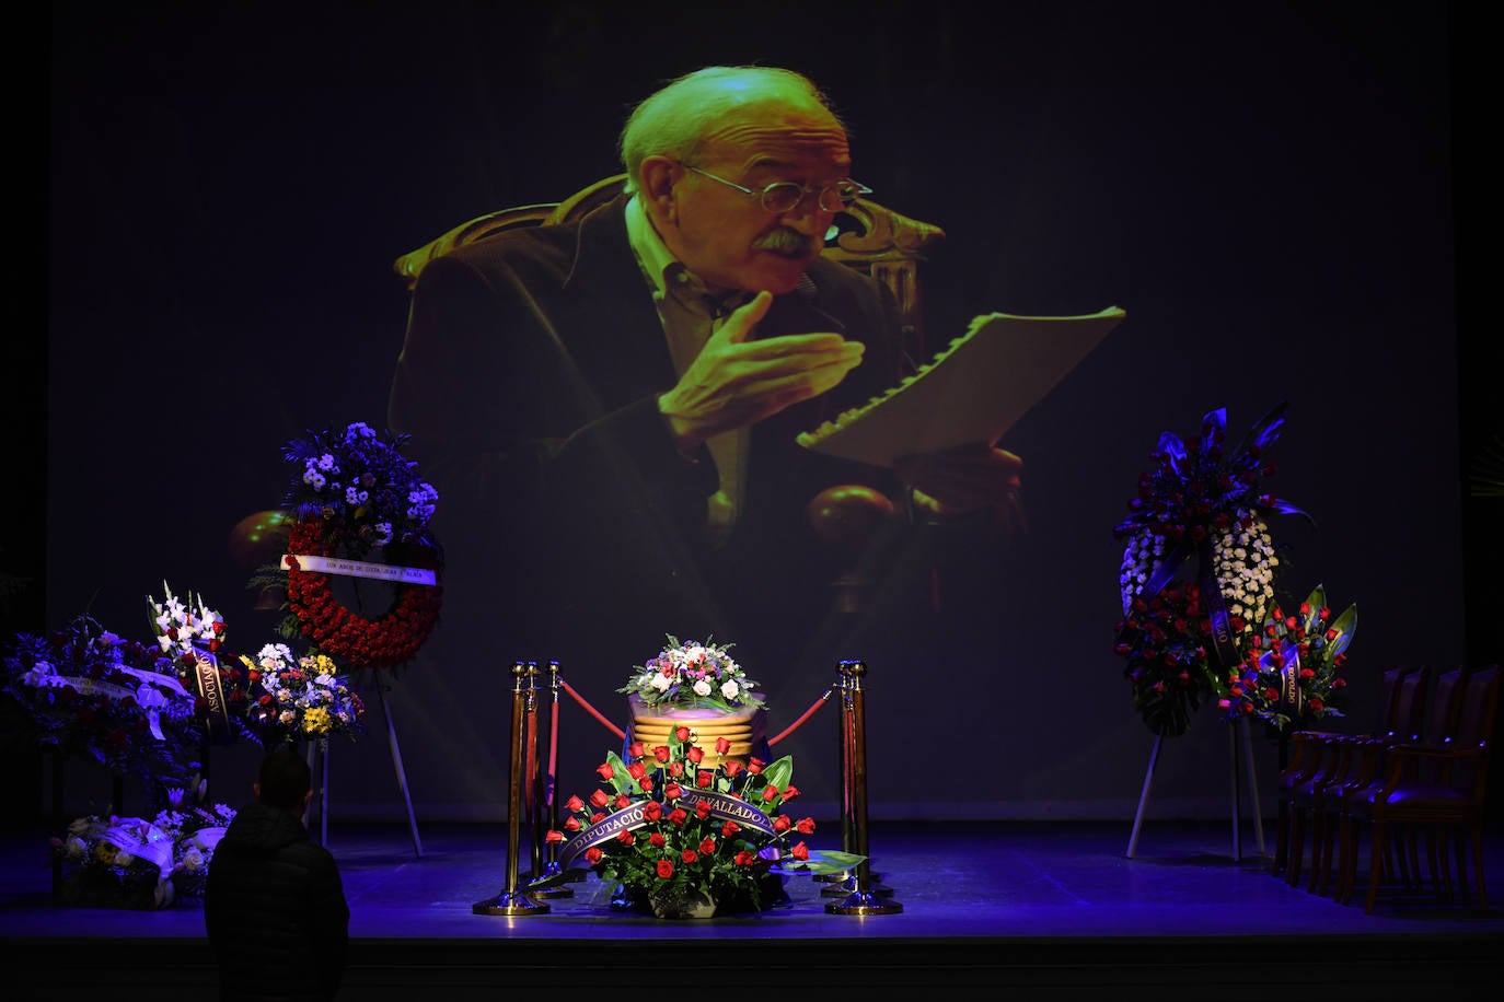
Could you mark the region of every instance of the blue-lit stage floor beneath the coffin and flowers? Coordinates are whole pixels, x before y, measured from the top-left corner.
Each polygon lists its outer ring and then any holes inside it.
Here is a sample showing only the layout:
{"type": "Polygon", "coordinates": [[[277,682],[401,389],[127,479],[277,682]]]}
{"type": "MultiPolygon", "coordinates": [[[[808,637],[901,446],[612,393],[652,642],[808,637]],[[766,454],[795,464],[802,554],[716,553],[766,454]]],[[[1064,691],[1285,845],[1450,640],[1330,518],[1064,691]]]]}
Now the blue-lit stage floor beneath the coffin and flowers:
{"type": "MultiPolygon", "coordinates": [[[[1366,915],[1361,888],[1343,906],[1307,892],[1304,880],[1292,888],[1275,877],[1272,825],[1265,855],[1245,829],[1235,843],[1230,822],[1151,819],[1128,858],[1126,822],[883,822],[871,826],[872,864],[892,891],[878,900],[896,903],[896,913],[829,913],[841,898],[800,877],[788,882],[791,901],[769,912],[665,922],[614,912],[611,888],[594,877],[569,885],[572,897],[543,898],[546,913],[475,915],[478,901],[505,889],[505,825],[420,822],[421,856],[406,823],[332,825],[350,903],[341,997],[411,997],[423,985],[441,985],[447,999],[481,997],[584,973],[600,987],[599,976],[665,976],[675,964],[764,970],[790,987],[800,978],[1012,984],[1030,987],[1029,997],[1188,982],[1223,999],[1268,997],[1272,985],[1284,997],[1318,985],[1361,985],[1366,997],[1426,984],[1445,985],[1448,997],[1490,994],[1484,988],[1504,969],[1504,840],[1489,843],[1490,910],[1474,897],[1385,888],[1366,915]],[[675,958],[659,951],[665,943],[675,958]]],[[[833,844],[820,831],[811,841],[833,844]]],[[[30,970],[57,972],[24,997],[107,988],[129,999],[117,991],[134,976],[153,1002],[212,994],[200,910],[63,907],[51,897],[45,835],[12,832],[5,861],[6,952],[29,957],[30,970]]]]}

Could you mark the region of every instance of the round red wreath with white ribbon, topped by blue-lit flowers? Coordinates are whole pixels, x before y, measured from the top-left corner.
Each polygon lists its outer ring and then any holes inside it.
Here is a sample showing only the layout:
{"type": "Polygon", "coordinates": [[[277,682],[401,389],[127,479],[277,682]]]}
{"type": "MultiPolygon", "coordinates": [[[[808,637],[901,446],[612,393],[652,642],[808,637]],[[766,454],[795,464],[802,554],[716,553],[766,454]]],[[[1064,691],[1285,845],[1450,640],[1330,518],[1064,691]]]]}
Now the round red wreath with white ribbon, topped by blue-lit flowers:
{"type": "Polygon", "coordinates": [[[292,620],[286,632],[359,667],[409,661],[433,632],[444,598],[442,553],[427,532],[438,491],[418,476],[417,463],[403,458],[405,440],[356,422],[293,440],[284,452],[296,470],[284,502],[293,512],[283,565],[292,620]],[[320,568],[325,560],[362,562],[376,551],[387,566],[430,572],[432,583],[393,580],[391,605],[365,616],[334,595],[332,575],[320,568]],[[304,566],[299,557],[319,560],[304,566]]]}

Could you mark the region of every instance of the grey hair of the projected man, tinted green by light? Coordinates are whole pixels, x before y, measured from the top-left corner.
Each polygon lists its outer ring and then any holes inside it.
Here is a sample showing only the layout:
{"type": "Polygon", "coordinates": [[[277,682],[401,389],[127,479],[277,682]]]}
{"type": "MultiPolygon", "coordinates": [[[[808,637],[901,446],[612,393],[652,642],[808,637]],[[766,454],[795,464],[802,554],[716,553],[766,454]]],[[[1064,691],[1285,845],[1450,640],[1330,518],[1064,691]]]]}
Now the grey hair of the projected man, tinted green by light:
{"type": "Polygon", "coordinates": [[[638,170],[648,156],[690,162],[705,134],[728,114],[764,101],[803,95],[836,117],[812,80],[776,66],[707,66],[680,77],[645,98],[621,129],[626,191],[638,188],[638,170]]]}

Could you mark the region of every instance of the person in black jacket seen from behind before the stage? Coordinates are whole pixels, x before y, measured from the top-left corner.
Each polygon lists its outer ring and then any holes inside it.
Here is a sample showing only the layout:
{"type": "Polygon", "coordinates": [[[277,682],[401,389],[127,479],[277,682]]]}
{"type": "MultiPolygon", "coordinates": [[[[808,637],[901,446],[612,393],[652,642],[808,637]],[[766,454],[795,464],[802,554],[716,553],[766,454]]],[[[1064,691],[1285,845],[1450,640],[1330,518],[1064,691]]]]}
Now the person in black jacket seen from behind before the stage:
{"type": "Polygon", "coordinates": [[[350,909],[334,855],[302,823],[310,778],[293,750],[268,754],[209,862],[203,918],[226,1002],[338,993],[350,909]]]}

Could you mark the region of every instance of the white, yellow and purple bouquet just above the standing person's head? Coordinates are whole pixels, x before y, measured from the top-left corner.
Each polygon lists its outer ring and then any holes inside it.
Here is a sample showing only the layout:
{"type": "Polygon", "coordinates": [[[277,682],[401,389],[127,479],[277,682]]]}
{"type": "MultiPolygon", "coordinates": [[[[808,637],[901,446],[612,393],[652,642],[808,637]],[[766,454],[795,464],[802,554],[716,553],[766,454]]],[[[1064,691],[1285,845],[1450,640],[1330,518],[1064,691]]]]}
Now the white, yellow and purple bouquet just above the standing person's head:
{"type": "Polygon", "coordinates": [[[298,658],[287,644],[269,643],[254,661],[241,655],[241,664],[245,723],[263,745],[355,739],[365,730],[365,705],[328,655],[298,658]]]}

